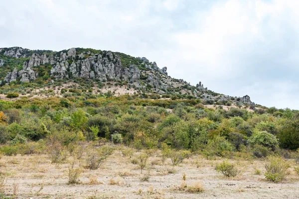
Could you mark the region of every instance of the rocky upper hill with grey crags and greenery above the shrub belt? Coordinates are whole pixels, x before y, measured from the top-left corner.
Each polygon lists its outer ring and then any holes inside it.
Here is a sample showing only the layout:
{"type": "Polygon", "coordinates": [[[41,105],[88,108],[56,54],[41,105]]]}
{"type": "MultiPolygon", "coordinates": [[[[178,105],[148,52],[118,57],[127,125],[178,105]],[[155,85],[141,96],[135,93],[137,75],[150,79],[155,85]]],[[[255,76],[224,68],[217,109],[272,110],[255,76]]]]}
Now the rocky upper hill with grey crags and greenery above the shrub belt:
{"type": "Polygon", "coordinates": [[[166,67],[160,69],[155,62],[145,57],[83,48],[59,52],[21,47],[0,48],[2,94],[18,85],[35,82],[51,85],[61,81],[68,84],[75,80],[105,85],[113,82],[114,85],[126,85],[127,90],[133,88],[134,92],[144,95],[154,94],[171,99],[194,98],[209,104],[254,104],[247,95],[242,98],[230,97],[208,90],[201,82],[192,86],[182,79],[171,78],[167,76],[166,67]]]}

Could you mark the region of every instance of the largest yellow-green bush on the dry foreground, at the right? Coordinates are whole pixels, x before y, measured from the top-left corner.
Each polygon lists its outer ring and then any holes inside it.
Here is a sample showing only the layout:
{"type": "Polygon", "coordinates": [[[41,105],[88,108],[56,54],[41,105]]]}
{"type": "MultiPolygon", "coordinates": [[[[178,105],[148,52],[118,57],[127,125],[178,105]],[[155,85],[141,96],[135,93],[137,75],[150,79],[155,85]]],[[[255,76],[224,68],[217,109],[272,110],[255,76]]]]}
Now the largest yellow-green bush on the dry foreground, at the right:
{"type": "Polygon", "coordinates": [[[281,182],[288,175],[288,168],[290,165],[281,157],[271,156],[266,163],[265,177],[268,181],[275,183],[281,182]]]}

